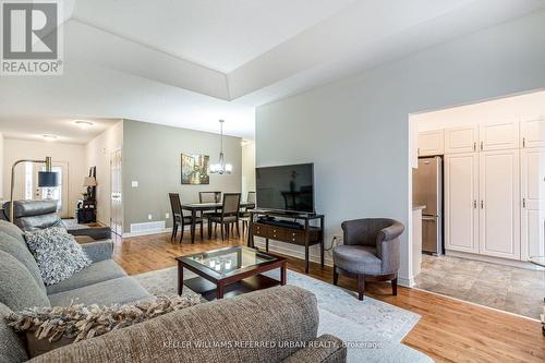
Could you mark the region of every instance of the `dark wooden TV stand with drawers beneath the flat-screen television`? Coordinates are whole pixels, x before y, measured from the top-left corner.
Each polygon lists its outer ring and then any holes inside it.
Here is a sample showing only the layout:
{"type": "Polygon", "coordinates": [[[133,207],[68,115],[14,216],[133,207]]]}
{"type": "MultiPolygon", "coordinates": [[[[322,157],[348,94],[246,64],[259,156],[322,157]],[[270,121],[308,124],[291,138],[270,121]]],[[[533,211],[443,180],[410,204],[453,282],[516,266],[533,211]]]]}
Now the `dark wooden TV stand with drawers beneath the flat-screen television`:
{"type": "Polygon", "coordinates": [[[280,211],[249,210],[250,225],[247,246],[255,249],[254,235],[265,239],[265,250],[269,251],[269,240],[298,244],[305,247],[305,274],[308,274],[308,247],[319,244],[319,258],[324,267],[324,216],[315,214],[286,214],[280,211]],[[277,226],[267,221],[259,221],[258,217],[282,217],[290,221],[300,221],[301,227],[277,226]],[[319,219],[319,227],[310,226],[311,220],[319,219]]]}

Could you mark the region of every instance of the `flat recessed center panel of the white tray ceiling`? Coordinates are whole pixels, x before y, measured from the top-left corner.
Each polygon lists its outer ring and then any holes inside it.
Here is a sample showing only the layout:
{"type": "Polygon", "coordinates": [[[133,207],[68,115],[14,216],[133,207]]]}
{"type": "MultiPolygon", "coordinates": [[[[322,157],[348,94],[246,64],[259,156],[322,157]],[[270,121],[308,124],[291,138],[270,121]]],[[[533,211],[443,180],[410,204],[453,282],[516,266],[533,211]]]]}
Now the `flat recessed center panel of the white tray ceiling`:
{"type": "Polygon", "coordinates": [[[229,73],[354,0],[81,0],[73,19],[229,73]]]}

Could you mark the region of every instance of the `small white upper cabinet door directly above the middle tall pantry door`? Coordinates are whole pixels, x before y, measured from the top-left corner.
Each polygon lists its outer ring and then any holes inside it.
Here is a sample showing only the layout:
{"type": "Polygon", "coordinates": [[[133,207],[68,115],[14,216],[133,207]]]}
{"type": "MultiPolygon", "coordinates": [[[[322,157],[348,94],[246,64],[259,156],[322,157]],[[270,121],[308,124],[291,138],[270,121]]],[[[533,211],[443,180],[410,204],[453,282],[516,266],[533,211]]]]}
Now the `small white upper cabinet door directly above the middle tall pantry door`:
{"type": "Polygon", "coordinates": [[[481,152],[519,148],[519,122],[489,122],[479,125],[481,152]]]}

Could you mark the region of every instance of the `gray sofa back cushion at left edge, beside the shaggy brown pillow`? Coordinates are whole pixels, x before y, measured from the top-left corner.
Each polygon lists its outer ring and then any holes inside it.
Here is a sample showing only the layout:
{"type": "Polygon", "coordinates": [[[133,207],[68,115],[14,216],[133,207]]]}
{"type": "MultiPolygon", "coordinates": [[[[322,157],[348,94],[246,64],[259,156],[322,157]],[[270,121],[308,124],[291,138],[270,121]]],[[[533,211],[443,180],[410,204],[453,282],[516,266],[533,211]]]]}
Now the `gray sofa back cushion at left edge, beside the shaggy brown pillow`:
{"type": "Polygon", "coordinates": [[[0,251],[0,302],[13,311],[51,306],[26,267],[3,251],[0,251]]]}

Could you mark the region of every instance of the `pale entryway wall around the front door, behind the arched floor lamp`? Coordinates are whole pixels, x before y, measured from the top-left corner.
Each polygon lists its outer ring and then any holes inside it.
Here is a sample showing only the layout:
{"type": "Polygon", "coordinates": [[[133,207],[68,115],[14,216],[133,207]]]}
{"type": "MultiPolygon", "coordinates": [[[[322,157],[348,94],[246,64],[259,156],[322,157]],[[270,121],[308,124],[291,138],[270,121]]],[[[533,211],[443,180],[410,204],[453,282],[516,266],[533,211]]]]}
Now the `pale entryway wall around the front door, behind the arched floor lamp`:
{"type": "MultiPolygon", "coordinates": [[[[28,141],[17,138],[4,138],[3,141],[3,196],[10,198],[11,167],[20,159],[43,160],[50,156],[53,162],[66,162],[69,166],[69,216],[73,216],[73,209],[81,194],[85,191],[83,178],[85,177],[85,147],[80,144],[64,144],[59,142],[28,141]]],[[[24,197],[24,166],[19,165],[15,177],[14,197],[24,197]]]]}

